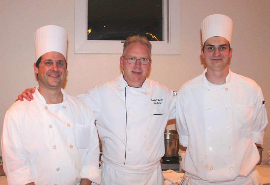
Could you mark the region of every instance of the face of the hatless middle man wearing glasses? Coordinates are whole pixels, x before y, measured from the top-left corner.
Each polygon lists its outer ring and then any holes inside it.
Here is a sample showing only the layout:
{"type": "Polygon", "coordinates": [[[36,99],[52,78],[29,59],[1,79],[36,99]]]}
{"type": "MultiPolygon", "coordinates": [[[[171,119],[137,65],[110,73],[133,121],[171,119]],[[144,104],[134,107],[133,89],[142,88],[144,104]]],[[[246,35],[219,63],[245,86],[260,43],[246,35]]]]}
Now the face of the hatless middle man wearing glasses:
{"type": "MultiPolygon", "coordinates": [[[[137,59],[151,58],[147,45],[140,43],[129,44],[123,56],[125,58],[134,57],[137,59]]],[[[150,60],[149,63],[145,65],[141,64],[139,60],[137,60],[135,64],[129,64],[125,58],[120,57],[120,66],[124,70],[124,79],[131,87],[141,87],[151,67],[152,61],[150,60]]]]}

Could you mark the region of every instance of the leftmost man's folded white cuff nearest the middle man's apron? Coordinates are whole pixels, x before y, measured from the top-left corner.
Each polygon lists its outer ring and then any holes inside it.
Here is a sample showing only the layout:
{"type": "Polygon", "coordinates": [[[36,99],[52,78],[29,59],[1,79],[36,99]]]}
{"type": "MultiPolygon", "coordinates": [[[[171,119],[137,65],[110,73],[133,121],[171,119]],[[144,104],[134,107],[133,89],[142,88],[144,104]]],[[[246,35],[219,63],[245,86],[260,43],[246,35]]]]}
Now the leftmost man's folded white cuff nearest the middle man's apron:
{"type": "Polygon", "coordinates": [[[89,179],[96,184],[101,182],[101,170],[94,166],[83,166],[80,173],[81,179],[89,179]]]}

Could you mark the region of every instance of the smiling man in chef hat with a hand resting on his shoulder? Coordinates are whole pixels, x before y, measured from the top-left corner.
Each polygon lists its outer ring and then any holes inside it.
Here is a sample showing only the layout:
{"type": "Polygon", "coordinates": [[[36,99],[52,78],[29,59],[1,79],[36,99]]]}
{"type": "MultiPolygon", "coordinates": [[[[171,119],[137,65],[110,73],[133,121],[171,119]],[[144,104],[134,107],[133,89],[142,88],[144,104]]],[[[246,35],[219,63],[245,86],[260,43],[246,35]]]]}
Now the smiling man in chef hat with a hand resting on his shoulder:
{"type": "Polygon", "coordinates": [[[39,85],[34,99],[14,103],[3,124],[8,184],[100,183],[93,112],[61,88],[67,68],[66,30],[53,25],[39,28],[35,49],[39,85]]]}

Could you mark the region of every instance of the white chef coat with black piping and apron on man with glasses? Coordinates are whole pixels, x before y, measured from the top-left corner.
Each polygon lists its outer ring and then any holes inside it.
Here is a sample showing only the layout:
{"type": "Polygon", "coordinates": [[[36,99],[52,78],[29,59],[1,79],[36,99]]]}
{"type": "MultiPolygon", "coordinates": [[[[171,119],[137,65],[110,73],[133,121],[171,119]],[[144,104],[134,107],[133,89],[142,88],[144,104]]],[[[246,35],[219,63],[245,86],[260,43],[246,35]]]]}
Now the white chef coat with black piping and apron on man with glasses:
{"type": "Polygon", "coordinates": [[[149,79],[141,87],[130,87],[122,72],[115,81],[78,98],[97,120],[105,163],[101,184],[163,184],[159,160],[164,155],[164,129],[175,117],[173,91],[149,79]]]}

